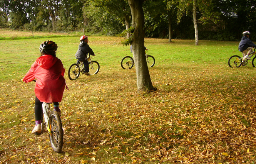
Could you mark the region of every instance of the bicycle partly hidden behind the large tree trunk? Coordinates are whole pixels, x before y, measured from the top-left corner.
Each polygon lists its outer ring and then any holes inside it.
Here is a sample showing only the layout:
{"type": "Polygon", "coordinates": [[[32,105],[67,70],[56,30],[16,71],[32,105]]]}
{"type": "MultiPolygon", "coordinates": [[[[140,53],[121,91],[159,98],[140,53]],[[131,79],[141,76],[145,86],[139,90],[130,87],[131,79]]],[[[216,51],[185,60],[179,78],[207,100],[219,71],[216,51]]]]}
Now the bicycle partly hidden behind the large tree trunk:
{"type": "MultiPolygon", "coordinates": [[[[153,67],[155,65],[155,58],[151,55],[147,54],[148,49],[145,51],[146,60],[147,60],[147,66],[153,67]]],[[[125,56],[121,61],[121,67],[122,69],[131,69],[134,66],[134,59],[131,56],[125,56]]]]}

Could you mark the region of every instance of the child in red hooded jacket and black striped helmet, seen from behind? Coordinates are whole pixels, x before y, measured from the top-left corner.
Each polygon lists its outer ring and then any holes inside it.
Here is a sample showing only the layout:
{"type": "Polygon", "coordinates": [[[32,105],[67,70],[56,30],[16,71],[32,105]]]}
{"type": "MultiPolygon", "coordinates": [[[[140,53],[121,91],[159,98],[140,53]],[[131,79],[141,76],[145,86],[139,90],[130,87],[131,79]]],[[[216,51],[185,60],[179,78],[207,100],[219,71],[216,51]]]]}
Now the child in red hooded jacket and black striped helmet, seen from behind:
{"type": "Polygon", "coordinates": [[[62,100],[65,89],[65,69],[60,59],[56,57],[57,48],[57,44],[53,41],[44,41],[40,44],[41,56],[22,79],[26,83],[37,79],[35,82],[35,128],[32,133],[42,132],[43,102],[54,102],[54,110],[60,115],[59,102],[62,100]]]}

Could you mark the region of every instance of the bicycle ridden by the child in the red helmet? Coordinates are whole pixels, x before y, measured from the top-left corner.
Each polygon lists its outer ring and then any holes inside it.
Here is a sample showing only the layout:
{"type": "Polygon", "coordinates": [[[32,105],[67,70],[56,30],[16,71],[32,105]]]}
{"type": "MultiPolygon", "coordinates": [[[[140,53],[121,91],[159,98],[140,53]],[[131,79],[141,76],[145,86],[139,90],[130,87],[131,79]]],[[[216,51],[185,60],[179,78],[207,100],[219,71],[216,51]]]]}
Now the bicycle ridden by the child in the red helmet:
{"type": "MultiPolygon", "coordinates": [[[[100,70],[100,64],[97,61],[92,61],[90,55],[89,57],[87,57],[87,60],[89,62],[89,69],[90,69],[90,72],[88,73],[90,75],[97,74],[100,70]]],[[[84,62],[77,61],[77,63],[74,63],[69,67],[68,76],[70,80],[77,79],[80,73],[85,74],[84,62]]]]}

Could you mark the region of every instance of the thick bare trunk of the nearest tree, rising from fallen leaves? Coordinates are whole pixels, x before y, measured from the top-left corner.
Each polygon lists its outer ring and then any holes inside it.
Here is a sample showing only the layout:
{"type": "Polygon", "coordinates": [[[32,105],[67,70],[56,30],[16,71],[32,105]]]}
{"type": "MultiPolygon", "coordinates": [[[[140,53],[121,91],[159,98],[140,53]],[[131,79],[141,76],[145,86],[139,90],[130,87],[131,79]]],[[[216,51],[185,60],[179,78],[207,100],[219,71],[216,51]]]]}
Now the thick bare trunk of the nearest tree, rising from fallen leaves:
{"type": "Polygon", "coordinates": [[[128,0],[132,13],[132,26],[134,27],[134,36],[132,38],[132,54],[136,66],[137,91],[154,90],[149,69],[147,67],[145,48],[144,48],[144,12],[142,4],[144,0],[128,0]]]}

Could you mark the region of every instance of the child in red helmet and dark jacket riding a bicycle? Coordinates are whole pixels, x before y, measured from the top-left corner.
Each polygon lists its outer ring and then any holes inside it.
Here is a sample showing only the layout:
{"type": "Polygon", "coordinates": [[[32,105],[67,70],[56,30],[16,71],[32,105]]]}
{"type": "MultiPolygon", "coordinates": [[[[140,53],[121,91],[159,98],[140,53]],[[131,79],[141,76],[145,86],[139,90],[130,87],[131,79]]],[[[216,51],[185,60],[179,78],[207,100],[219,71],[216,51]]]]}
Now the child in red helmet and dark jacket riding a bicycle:
{"type": "Polygon", "coordinates": [[[87,55],[88,53],[92,56],[94,56],[94,52],[88,45],[88,36],[81,36],[80,38],[80,44],[78,46],[78,50],[75,53],[75,57],[78,59],[77,62],[82,61],[84,62],[84,70],[85,70],[85,75],[90,75],[89,74],[89,62],[87,61],[87,55]]]}

